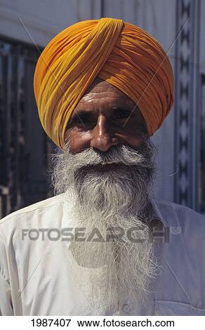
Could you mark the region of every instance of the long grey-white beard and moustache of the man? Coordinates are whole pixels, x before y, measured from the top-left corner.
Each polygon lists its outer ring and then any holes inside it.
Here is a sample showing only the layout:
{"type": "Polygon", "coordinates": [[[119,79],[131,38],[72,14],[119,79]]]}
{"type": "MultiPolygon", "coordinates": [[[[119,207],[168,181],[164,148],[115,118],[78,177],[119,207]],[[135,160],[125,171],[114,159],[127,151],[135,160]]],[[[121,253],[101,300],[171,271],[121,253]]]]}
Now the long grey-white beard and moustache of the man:
{"type": "MultiPolygon", "coordinates": [[[[55,194],[73,203],[75,225],[84,241],[73,240],[70,251],[75,286],[91,304],[90,315],[121,310],[123,301],[145,304],[157,275],[149,222],[155,147],[145,136],[138,150],[122,145],[107,152],[88,148],[53,155],[55,194]]],[[[111,314],[112,315],[112,314],[111,314]]]]}

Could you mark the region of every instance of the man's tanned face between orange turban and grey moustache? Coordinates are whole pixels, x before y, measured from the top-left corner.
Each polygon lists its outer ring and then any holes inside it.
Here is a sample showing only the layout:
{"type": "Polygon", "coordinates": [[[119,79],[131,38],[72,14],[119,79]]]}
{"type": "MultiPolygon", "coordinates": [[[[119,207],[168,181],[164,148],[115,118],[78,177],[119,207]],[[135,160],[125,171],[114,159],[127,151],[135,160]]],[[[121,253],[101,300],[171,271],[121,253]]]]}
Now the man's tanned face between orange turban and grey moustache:
{"type": "Polygon", "coordinates": [[[106,152],[114,145],[138,150],[143,133],[147,133],[147,127],[135,103],[97,78],[75,107],[65,142],[70,140],[70,152],[74,154],[90,147],[106,152]]]}

